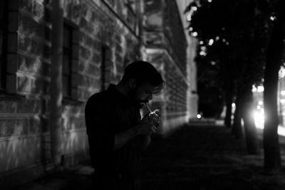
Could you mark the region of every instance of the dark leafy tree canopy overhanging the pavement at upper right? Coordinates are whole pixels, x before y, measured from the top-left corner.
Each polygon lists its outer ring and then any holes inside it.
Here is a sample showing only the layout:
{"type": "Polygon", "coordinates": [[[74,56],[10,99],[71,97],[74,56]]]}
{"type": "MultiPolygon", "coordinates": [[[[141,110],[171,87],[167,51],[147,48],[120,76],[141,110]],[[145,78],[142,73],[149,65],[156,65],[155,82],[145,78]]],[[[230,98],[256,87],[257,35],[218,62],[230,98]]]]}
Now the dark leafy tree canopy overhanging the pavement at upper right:
{"type": "Polygon", "coordinates": [[[190,35],[200,42],[198,69],[217,73],[203,75],[198,84],[209,78],[227,91],[229,80],[234,81],[234,88],[262,82],[269,33],[267,5],[265,0],[258,4],[254,0],[196,0],[187,6],[190,35]]]}

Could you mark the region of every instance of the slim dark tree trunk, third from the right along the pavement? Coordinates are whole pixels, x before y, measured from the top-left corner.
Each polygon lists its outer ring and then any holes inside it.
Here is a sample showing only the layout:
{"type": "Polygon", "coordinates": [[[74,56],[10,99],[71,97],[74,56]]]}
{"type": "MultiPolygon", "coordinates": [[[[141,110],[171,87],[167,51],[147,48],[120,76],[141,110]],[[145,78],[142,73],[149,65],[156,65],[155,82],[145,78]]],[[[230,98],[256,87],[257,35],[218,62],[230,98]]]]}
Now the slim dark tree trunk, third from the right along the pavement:
{"type": "Polygon", "coordinates": [[[240,110],[240,100],[239,100],[239,95],[237,95],[236,99],[236,110],[234,111],[234,125],[232,126],[232,134],[237,139],[242,138],[242,117],[241,117],[241,110],[240,110]]]}

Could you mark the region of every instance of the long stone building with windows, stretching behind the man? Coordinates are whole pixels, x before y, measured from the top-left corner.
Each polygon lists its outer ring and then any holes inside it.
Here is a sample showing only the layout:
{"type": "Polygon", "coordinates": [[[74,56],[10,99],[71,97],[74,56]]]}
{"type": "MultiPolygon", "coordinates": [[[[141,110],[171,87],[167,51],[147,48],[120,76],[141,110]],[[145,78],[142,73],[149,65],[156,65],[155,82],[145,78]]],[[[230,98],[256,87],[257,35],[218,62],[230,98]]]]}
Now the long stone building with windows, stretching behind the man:
{"type": "Polygon", "coordinates": [[[162,110],[160,134],[195,117],[196,42],[185,31],[187,3],[63,0],[62,61],[54,63],[51,1],[0,1],[0,189],[54,168],[50,116],[58,110],[61,165],[88,159],[85,102],[109,83],[118,83],[133,60],[150,61],[166,80],[151,104],[162,110]],[[62,65],[57,93],[63,98],[57,110],[51,106],[53,64],[62,65]]]}

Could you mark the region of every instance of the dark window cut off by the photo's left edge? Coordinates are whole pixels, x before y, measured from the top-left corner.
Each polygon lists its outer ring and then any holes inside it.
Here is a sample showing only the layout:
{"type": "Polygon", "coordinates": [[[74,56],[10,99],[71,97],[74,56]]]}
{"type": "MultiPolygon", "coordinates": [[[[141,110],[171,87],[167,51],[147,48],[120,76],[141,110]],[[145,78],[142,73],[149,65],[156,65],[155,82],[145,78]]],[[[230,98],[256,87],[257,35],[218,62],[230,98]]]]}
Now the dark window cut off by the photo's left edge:
{"type": "Polygon", "coordinates": [[[6,89],[7,1],[0,1],[0,90],[6,89]]]}

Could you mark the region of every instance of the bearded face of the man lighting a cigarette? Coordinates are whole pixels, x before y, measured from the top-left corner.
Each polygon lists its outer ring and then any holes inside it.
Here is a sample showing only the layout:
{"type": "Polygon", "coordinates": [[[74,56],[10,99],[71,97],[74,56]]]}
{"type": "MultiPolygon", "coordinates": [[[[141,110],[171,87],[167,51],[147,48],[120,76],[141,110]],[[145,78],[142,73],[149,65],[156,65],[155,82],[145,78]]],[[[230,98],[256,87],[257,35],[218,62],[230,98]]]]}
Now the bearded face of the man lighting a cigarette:
{"type": "Polygon", "coordinates": [[[154,90],[155,87],[149,83],[142,83],[130,90],[129,95],[135,103],[135,106],[142,108],[146,102],[152,100],[152,93],[154,90]]]}

